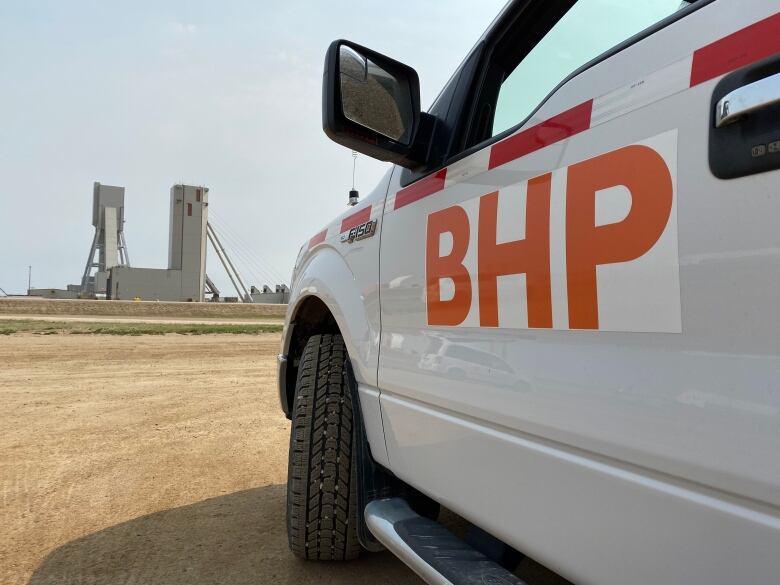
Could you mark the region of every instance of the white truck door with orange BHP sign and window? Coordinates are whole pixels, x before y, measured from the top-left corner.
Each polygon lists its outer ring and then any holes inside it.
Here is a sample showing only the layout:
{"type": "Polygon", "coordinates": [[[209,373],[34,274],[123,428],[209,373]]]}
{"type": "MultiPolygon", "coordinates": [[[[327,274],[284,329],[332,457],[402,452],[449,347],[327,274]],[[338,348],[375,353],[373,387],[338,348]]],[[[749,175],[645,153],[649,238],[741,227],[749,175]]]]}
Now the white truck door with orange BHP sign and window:
{"type": "Polygon", "coordinates": [[[717,502],[780,509],[777,3],[571,4],[510,5],[444,164],[394,172],[390,466],[577,582],[770,582],[778,528],[717,502]]]}

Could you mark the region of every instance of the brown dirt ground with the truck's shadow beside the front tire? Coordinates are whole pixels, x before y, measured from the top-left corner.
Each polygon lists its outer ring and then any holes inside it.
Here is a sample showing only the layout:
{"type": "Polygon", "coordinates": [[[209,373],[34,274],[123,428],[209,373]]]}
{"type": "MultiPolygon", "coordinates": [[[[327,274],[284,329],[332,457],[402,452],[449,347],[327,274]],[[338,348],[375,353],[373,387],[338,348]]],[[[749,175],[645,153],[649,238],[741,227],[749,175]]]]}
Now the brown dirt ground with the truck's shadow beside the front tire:
{"type": "Polygon", "coordinates": [[[0,583],[419,583],[295,559],[278,335],[0,337],[0,583]]]}

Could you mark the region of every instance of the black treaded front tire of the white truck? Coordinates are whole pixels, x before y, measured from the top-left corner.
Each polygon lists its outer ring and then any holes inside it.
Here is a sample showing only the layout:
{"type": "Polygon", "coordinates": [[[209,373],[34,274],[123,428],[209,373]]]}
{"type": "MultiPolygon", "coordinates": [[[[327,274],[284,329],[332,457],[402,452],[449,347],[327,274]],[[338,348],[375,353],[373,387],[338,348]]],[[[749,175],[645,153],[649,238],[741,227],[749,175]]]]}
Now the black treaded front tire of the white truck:
{"type": "Polygon", "coordinates": [[[287,469],[287,538],[304,559],[360,554],[357,449],[341,335],[309,338],[298,366],[287,469]]]}

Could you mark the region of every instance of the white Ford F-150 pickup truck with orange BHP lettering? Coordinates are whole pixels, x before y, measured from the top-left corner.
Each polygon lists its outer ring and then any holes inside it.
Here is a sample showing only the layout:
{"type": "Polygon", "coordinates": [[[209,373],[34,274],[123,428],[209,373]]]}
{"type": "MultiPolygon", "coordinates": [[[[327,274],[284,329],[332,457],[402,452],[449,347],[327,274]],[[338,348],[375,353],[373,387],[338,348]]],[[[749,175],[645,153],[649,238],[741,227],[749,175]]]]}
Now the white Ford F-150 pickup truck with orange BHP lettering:
{"type": "Polygon", "coordinates": [[[780,583],[778,9],[514,0],[428,112],[331,45],[325,132],[394,166],[295,263],[295,554],[780,583]]]}

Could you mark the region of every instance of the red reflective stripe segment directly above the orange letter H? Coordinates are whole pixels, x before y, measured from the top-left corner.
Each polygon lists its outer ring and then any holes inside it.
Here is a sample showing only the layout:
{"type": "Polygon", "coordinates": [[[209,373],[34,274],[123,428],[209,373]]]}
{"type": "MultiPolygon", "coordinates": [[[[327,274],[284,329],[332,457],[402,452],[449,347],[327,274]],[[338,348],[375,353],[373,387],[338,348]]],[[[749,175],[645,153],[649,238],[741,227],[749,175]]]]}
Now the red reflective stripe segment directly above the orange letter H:
{"type": "Polygon", "coordinates": [[[541,124],[497,142],[490,149],[488,169],[500,167],[516,158],[584,132],[590,128],[592,111],[593,100],[588,100],[571,110],[566,110],[549,120],[545,120],[541,124]]]}

